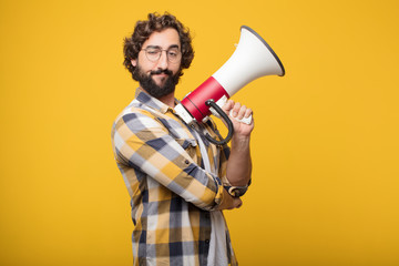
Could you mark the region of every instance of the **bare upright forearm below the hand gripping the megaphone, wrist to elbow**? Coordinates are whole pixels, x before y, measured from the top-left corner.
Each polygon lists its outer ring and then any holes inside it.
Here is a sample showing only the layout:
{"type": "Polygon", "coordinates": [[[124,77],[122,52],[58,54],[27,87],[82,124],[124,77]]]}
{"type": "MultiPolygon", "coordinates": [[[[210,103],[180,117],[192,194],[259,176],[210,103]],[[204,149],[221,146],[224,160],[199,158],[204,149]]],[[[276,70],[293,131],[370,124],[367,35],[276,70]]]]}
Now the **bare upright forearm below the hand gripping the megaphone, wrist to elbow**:
{"type": "Polygon", "coordinates": [[[232,139],[232,151],[227,162],[226,177],[234,186],[245,186],[252,174],[249,136],[236,135],[232,139]]]}

